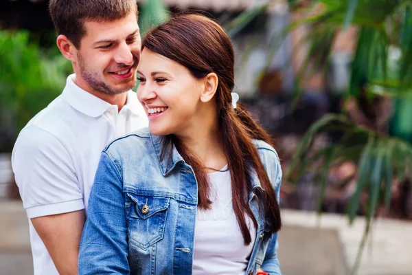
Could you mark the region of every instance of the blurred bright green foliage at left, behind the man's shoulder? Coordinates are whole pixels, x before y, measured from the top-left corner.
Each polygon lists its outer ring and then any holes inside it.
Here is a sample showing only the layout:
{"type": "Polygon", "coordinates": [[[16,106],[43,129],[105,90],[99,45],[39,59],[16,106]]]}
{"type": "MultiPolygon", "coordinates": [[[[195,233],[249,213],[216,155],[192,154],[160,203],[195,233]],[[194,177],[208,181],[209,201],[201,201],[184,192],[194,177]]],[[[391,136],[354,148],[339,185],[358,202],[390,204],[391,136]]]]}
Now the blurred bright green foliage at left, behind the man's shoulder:
{"type": "Polygon", "coordinates": [[[69,72],[71,64],[63,56],[45,55],[30,43],[28,32],[0,30],[0,128],[13,129],[9,134],[15,137],[61,93],[69,72]],[[10,116],[14,123],[5,119],[10,116]]]}

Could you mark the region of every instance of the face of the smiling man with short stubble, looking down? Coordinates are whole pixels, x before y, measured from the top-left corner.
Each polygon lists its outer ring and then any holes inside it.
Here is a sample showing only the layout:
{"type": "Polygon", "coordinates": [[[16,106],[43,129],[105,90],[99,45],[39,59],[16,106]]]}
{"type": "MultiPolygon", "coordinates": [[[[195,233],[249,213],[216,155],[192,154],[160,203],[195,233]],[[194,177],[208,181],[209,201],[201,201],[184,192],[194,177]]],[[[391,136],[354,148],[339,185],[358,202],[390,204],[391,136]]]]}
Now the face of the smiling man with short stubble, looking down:
{"type": "Polygon", "coordinates": [[[141,47],[136,14],[108,22],[86,20],[84,29],[73,63],[76,83],[87,91],[108,95],[135,87],[141,47]]]}

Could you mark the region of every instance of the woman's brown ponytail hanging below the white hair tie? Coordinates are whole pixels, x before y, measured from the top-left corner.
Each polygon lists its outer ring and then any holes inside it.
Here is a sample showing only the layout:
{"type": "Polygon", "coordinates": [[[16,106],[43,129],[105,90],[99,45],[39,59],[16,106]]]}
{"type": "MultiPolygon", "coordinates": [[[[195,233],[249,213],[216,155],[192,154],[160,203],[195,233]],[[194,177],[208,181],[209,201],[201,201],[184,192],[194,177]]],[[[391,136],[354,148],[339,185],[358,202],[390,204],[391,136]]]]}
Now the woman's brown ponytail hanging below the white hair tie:
{"type": "Polygon", "coordinates": [[[263,140],[271,144],[271,137],[262,126],[251,118],[242,104],[238,102],[236,109],[229,106],[220,116],[219,126],[222,129],[220,137],[231,171],[233,210],[240,225],[244,243],[249,244],[251,235],[244,219],[245,212],[253,220],[255,228],[258,227],[247,201],[247,195],[249,192],[253,192],[251,189],[251,168],[255,170],[262,185],[260,206],[264,209],[264,216],[271,227],[270,230],[277,232],[282,226],[275,190],[262,164],[258,149],[252,141],[263,140]]]}

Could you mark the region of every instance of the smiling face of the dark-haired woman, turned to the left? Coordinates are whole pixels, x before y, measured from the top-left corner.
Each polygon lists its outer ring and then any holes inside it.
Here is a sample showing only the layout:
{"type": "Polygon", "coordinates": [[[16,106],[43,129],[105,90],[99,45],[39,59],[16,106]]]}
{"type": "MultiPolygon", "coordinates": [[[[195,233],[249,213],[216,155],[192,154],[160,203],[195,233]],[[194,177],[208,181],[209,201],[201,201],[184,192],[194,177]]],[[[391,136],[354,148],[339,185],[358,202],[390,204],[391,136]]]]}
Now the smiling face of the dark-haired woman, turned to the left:
{"type": "Polygon", "coordinates": [[[193,131],[201,105],[202,80],[175,61],[144,48],[141,52],[137,98],[154,135],[184,135],[193,131]]]}

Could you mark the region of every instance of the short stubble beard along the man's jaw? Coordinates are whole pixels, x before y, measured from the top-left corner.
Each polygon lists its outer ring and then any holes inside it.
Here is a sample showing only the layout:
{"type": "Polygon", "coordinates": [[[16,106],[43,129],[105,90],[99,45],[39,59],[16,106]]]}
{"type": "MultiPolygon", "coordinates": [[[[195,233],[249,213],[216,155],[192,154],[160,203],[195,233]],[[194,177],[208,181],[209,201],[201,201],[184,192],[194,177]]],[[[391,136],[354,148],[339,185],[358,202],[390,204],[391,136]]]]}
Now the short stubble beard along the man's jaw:
{"type": "MultiPolygon", "coordinates": [[[[104,83],[104,81],[98,80],[98,78],[99,78],[98,73],[93,72],[93,71],[91,71],[87,68],[86,63],[84,62],[84,59],[82,58],[82,56],[80,54],[78,54],[78,61],[79,61],[79,65],[80,65],[80,74],[81,74],[82,78],[95,91],[100,91],[104,94],[108,94],[108,95],[113,96],[113,95],[117,95],[117,94],[123,94],[124,92],[126,92],[130,89],[133,89],[133,87],[135,87],[136,83],[134,83],[134,84],[132,83],[132,84],[126,86],[126,87],[122,87],[120,89],[115,89],[114,87],[111,87],[111,86],[107,85],[106,83],[104,83]]],[[[136,63],[137,58],[133,58],[133,62],[136,63]]],[[[134,67],[132,69],[134,69],[134,67]]]]}

